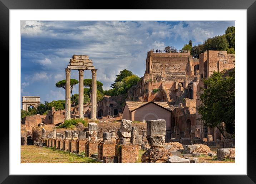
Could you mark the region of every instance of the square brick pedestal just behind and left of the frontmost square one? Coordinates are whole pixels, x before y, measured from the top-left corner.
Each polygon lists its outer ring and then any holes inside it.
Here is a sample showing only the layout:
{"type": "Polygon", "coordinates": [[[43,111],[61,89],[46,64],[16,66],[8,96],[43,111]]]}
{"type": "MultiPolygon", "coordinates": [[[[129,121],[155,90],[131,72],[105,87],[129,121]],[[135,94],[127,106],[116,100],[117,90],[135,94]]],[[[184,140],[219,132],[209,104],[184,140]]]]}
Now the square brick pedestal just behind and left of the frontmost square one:
{"type": "Polygon", "coordinates": [[[114,156],[115,146],[114,142],[101,142],[98,144],[98,160],[103,160],[103,157],[114,156]]]}

